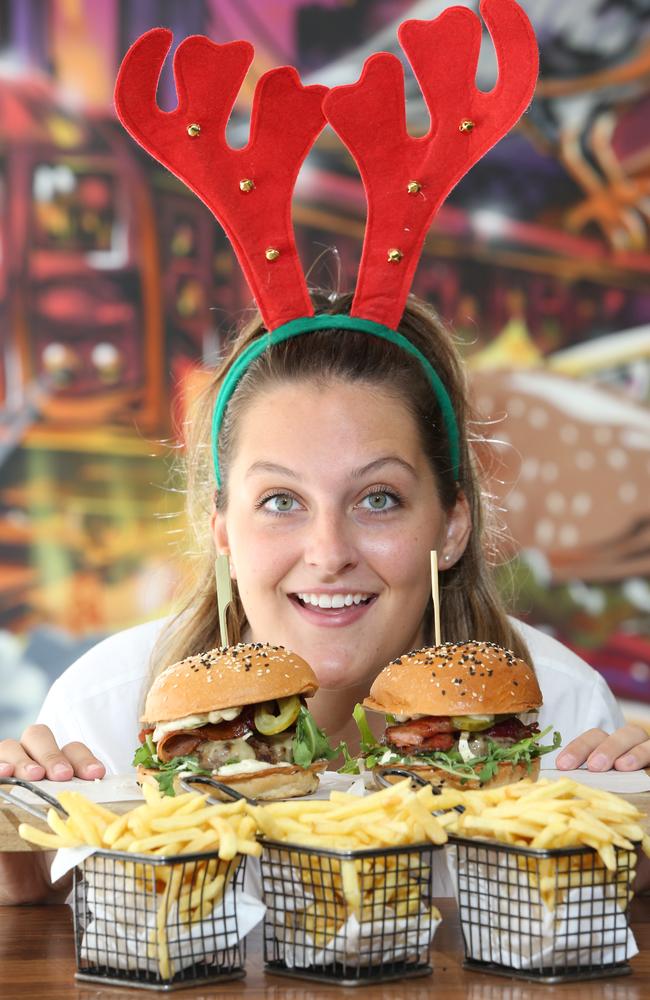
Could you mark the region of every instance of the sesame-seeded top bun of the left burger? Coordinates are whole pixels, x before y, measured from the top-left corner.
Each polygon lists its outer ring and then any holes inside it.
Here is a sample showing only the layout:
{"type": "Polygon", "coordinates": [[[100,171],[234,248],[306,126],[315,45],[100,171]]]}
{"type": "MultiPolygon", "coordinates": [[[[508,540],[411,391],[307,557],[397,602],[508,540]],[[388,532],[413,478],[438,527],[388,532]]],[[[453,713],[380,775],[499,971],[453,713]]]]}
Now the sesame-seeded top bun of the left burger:
{"type": "Polygon", "coordinates": [[[171,722],[219,708],[305,695],[318,690],[308,663],[284,646],[239,643],[173,663],[156,677],[141,722],[171,722]]]}

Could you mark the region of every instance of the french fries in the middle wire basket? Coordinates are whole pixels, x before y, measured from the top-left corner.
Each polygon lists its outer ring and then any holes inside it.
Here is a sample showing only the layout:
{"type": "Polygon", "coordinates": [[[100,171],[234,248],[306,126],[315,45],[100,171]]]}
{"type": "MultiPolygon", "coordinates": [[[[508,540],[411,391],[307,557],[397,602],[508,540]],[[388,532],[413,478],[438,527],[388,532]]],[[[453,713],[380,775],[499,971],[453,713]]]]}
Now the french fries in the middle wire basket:
{"type": "Polygon", "coordinates": [[[432,816],[435,808],[431,787],[412,792],[408,779],[363,798],[332,792],[328,801],[251,807],[249,812],[265,837],[295,845],[289,855],[292,868],[313,897],[304,911],[286,914],[287,926],[306,931],[321,948],[350,916],[365,923],[384,920],[387,909],[398,918],[426,910],[430,921],[440,919],[436,907],[424,902],[430,893],[430,864],[419,852],[399,853],[405,845],[446,841],[445,831],[432,816]],[[387,855],[345,856],[377,848],[396,850],[387,855]],[[341,857],[319,855],[318,850],[340,851],[341,857]]]}

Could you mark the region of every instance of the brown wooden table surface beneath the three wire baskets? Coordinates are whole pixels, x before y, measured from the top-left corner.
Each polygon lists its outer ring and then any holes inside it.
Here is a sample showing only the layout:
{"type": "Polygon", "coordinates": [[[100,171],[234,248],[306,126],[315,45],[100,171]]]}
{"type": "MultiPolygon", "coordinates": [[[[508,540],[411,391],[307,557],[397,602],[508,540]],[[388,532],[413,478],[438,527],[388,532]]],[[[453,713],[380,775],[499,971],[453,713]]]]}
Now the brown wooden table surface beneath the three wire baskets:
{"type": "MultiPolygon", "coordinates": [[[[647,1000],[650,995],[650,896],[634,900],[632,928],[639,955],[632,975],[582,983],[546,986],[523,980],[467,972],[462,967],[462,939],[455,903],[441,900],[443,923],[434,939],[433,976],[387,983],[385,986],[343,988],[304,979],[270,976],[262,971],[261,934],[248,939],[245,979],[174,991],[171,996],[211,1000],[647,1000]]],[[[3,1000],[118,1000],[144,998],[149,991],[75,980],[72,912],[67,906],[0,907],[0,997],[3,1000]]],[[[162,993],[158,993],[162,995],[162,993]]]]}

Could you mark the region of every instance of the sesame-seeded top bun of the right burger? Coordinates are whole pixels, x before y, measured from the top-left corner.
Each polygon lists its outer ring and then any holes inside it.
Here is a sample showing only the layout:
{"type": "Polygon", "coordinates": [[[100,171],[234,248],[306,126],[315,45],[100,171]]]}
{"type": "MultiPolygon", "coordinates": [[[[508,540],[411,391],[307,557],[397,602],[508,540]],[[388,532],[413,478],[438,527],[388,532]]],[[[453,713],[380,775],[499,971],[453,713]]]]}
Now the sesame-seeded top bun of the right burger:
{"type": "Polygon", "coordinates": [[[393,715],[516,715],[542,704],[535,672],[492,642],[445,643],[392,660],[365,708],[393,715]]]}

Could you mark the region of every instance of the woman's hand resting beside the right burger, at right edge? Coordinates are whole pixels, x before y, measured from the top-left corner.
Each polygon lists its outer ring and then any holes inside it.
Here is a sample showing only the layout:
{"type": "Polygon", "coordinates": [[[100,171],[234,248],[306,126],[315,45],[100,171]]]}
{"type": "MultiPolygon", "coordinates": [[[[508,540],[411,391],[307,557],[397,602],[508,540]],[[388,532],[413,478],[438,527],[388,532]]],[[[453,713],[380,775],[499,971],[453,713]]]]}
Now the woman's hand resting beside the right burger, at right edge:
{"type": "Polygon", "coordinates": [[[590,729],[571,740],[555,763],[561,771],[571,771],[585,761],[590,771],[639,771],[650,766],[650,734],[633,725],[609,735],[602,729],[590,729]]]}

